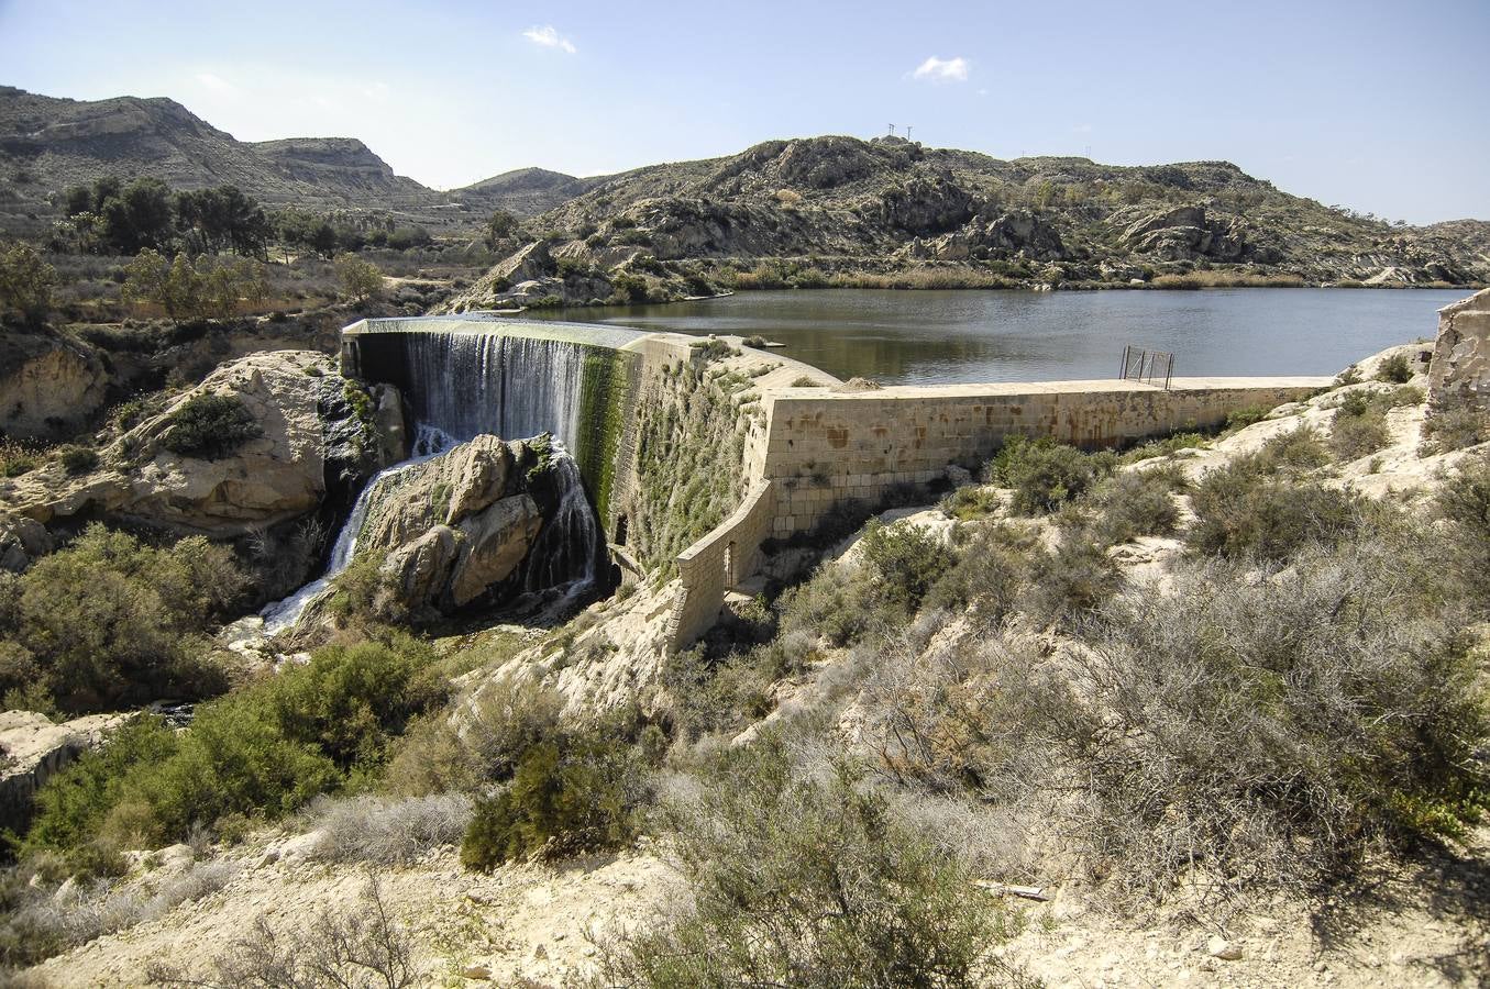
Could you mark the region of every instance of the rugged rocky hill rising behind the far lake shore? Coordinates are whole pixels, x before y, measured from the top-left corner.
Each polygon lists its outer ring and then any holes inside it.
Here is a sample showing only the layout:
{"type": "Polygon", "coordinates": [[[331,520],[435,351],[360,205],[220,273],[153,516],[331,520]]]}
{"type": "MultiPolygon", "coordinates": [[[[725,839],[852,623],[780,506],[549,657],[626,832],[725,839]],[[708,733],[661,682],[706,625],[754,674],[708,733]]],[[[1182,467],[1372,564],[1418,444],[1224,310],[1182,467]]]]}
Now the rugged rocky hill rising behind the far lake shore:
{"type": "MultiPolygon", "coordinates": [[[[1490,279],[1490,225],[1480,220],[1392,225],[1289,195],[1229,162],[1000,161],[894,137],[775,140],[641,168],[597,182],[530,226],[550,231],[551,253],[569,258],[566,274],[584,265],[638,274],[654,298],[708,284],[1490,279]]],[[[586,301],[557,287],[541,286],[541,298],[586,301]]],[[[483,296],[478,286],[463,304],[529,301],[483,296]]]]}

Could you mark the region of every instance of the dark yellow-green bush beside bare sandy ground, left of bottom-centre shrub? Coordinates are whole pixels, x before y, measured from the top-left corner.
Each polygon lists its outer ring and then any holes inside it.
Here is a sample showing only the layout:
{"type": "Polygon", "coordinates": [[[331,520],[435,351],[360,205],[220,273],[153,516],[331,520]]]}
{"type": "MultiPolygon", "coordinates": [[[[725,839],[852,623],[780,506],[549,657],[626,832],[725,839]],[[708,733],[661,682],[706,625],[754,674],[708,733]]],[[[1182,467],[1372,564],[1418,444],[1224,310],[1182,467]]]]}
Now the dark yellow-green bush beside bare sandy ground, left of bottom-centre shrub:
{"type": "Polygon", "coordinates": [[[507,789],[477,801],[460,864],[489,873],[508,861],[621,848],[636,834],[647,789],[638,752],[599,733],[539,742],[507,789]]]}

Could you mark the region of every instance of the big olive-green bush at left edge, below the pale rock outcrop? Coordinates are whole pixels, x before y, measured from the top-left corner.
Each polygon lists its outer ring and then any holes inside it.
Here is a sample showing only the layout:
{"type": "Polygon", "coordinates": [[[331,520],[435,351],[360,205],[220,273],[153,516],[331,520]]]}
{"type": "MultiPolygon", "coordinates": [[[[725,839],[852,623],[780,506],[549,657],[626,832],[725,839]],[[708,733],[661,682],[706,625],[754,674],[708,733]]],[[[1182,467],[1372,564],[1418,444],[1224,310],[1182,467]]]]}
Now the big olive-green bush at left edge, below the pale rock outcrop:
{"type": "Polygon", "coordinates": [[[201,536],[155,548],[95,523],[0,600],[0,693],[40,685],[64,710],[216,693],[203,635],[246,584],[201,536]]]}

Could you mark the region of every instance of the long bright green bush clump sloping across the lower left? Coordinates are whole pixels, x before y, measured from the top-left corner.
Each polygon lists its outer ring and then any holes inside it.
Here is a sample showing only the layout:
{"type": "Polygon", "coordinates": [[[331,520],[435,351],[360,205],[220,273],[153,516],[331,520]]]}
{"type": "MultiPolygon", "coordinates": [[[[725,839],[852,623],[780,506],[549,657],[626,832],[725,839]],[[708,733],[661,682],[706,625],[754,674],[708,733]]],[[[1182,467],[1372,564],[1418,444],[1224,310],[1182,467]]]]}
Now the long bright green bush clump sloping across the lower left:
{"type": "Polygon", "coordinates": [[[317,649],[221,700],[180,736],[131,727],[37,795],[28,850],[153,848],[229,816],[277,818],[375,777],[390,739],[444,700],[414,639],[317,649]]]}

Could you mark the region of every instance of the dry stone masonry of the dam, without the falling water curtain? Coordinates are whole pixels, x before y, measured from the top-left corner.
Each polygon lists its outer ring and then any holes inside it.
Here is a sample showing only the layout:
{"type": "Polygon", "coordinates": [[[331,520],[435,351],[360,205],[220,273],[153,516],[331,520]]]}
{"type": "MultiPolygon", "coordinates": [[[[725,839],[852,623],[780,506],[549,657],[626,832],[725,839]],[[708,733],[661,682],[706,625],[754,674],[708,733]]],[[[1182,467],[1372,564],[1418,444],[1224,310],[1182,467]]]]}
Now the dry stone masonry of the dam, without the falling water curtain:
{"type": "Polygon", "coordinates": [[[365,368],[377,380],[392,375],[413,384],[371,359],[375,338],[392,332],[572,338],[587,350],[615,352],[606,393],[584,401],[587,417],[605,413],[605,435],[586,444],[603,450],[606,460],[605,490],[592,497],[614,545],[648,570],[676,570],[673,648],[718,620],[726,591],[755,572],[766,539],[808,532],[840,502],[873,506],[888,489],[927,486],[951,465],[974,469],[1012,435],[1120,447],[1214,427],[1234,411],[1274,408],[1331,383],[1295,377],[1176,378],[1170,389],[1118,380],[852,389],[733,337],[703,347],[684,334],[481,314],[353,323],[343,331],[344,372],[364,377],[365,368]],[[799,384],[805,378],[815,384],[799,384]]]}

